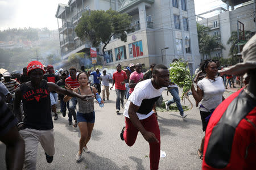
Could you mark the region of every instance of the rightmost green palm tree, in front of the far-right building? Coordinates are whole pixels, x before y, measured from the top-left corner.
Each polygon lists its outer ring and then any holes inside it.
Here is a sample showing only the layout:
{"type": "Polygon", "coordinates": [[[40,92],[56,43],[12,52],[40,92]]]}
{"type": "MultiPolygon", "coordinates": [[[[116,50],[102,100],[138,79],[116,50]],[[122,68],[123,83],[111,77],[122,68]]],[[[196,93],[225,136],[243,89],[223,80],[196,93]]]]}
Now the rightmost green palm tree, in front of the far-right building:
{"type": "MultiPolygon", "coordinates": [[[[242,35],[242,32],[240,32],[240,35],[242,35]]],[[[240,43],[246,44],[246,42],[250,39],[250,31],[245,31],[245,40],[241,40],[240,43]]],[[[229,49],[229,55],[233,56],[234,54],[238,53],[238,41],[237,41],[237,31],[232,31],[231,36],[229,37],[228,41],[226,44],[231,44],[230,49],[229,49]]],[[[242,51],[242,49],[240,49],[242,51]]]]}

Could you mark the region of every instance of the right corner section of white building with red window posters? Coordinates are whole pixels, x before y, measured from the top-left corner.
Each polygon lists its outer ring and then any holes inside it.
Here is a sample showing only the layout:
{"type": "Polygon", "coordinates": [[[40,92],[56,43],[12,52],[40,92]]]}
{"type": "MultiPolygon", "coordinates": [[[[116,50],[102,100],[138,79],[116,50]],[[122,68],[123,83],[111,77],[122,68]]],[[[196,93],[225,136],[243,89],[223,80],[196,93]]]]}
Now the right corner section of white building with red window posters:
{"type": "Polygon", "coordinates": [[[191,71],[198,67],[200,54],[193,1],[125,0],[118,11],[132,16],[135,32],[128,34],[127,42],[113,37],[106,46],[109,61],[123,66],[139,62],[149,67],[151,63],[169,66],[172,59],[183,58],[191,71]]]}

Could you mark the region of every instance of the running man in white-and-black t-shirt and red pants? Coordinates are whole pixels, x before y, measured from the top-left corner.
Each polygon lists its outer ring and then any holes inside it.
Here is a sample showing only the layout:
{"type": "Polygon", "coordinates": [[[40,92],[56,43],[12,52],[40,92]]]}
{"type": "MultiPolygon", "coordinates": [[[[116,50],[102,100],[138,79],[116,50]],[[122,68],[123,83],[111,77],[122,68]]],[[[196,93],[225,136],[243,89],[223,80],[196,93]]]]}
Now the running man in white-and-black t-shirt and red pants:
{"type": "Polygon", "coordinates": [[[120,137],[128,146],[133,146],[138,132],[150,145],[150,169],[158,169],[160,159],[160,130],[155,102],[170,83],[166,66],[156,65],[152,79],[139,82],[125,105],[125,126],[120,137]]]}

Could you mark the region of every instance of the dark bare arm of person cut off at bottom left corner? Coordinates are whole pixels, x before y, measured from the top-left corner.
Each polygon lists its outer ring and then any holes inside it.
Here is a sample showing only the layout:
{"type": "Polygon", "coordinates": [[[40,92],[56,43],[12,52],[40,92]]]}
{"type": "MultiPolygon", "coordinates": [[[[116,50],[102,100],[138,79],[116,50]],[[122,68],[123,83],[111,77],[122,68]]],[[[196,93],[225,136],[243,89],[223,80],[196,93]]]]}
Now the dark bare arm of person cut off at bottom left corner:
{"type": "Polygon", "coordinates": [[[22,169],[25,145],[16,126],[13,126],[5,135],[0,137],[0,141],[6,145],[7,169],[22,169]]]}

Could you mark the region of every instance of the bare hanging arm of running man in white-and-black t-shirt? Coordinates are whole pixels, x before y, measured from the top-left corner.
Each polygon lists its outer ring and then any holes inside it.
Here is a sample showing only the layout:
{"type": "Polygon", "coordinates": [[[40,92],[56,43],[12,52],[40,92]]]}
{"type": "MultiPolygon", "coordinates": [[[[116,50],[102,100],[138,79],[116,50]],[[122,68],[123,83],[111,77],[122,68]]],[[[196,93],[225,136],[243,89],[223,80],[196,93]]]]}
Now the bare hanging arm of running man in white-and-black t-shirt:
{"type": "Polygon", "coordinates": [[[141,134],[143,135],[144,139],[146,139],[147,142],[159,142],[158,139],[156,139],[154,133],[146,131],[146,129],[144,129],[144,127],[142,126],[141,121],[139,121],[139,118],[136,114],[138,109],[139,107],[137,105],[133,104],[133,102],[130,103],[128,114],[131,123],[141,132],[141,134]]]}

